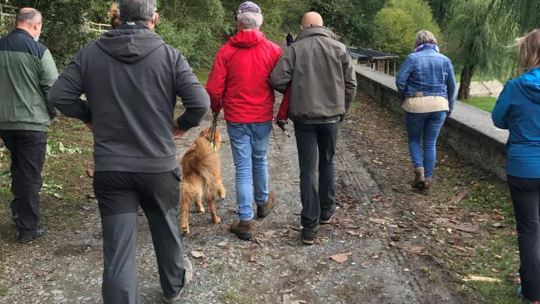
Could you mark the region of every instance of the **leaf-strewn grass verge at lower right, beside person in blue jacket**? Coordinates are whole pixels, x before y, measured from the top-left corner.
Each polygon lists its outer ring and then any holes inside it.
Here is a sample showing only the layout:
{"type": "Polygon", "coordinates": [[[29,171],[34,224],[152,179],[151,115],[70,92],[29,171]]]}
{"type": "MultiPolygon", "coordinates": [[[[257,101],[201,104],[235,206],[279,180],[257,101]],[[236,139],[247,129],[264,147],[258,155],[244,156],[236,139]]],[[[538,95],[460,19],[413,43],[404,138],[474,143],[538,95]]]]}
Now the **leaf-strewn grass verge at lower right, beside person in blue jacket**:
{"type": "MultiPolygon", "coordinates": [[[[448,204],[456,192],[466,191],[465,198],[455,205],[463,210],[470,222],[480,226],[478,234],[461,236],[453,241],[473,248],[472,256],[458,256],[456,251],[439,251],[438,258],[463,276],[477,275],[500,279],[500,283],[466,282],[463,289],[480,293],[482,303],[520,303],[515,296],[518,284],[514,281],[520,262],[518,237],[515,232],[513,206],[504,182],[485,172],[473,170],[465,165],[456,170],[456,165],[440,165],[439,178],[444,182],[435,184],[440,203],[448,204]],[[505,228],[494,227],[502,223],[505,228]]],[[[462,216],[463,216],[462,215],[462,216]]],[[[464,219],[462,219],[464,220],[464,219]]],[[[451,236],[447,235],[449,238],[451,236]]]]}

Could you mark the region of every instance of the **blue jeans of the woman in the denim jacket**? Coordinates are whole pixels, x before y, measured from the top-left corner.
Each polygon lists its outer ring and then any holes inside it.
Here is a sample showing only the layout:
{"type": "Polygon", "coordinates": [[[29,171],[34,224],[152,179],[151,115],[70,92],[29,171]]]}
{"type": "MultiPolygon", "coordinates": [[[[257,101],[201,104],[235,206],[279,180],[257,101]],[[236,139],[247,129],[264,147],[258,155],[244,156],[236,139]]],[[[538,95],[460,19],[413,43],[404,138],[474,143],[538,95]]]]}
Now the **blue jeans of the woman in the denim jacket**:
{"type": "Polygon", "coordinates": [[[405,113],[407,136],[409,137],[409,153],[414,167],[424,167],[425,177],[433,175],[437,151],[437,137],[441,131],[446,111],[431,113],[405,113]],[[420,146],[420,139],[424,141],[424,149],[420,146]]]}

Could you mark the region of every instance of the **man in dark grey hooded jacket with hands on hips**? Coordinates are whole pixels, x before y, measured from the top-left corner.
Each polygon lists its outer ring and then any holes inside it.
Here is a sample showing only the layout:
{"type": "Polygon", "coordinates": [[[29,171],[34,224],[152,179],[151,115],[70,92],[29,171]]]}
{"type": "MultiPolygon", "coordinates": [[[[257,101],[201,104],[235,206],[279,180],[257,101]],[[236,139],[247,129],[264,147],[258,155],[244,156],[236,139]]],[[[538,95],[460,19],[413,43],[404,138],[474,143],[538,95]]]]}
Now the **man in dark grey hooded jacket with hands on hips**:
{"type": "Polygon", "coordinates": [[[176,222],[181,173],[174,135],[199,125],[210,99],[186,58],[153,32],[155,9],[156,0],[120,0],[124,23],[84,46],[49,95],[60,112],[94,131],[105,304],[139,303],[139,205],[150,226],[166,303],[180,298],[193,274],[176,222]],[[79,99],[83,93],[87,101],[79,99]],[[186,111],[174,120],[177,96],[186,111]]]}

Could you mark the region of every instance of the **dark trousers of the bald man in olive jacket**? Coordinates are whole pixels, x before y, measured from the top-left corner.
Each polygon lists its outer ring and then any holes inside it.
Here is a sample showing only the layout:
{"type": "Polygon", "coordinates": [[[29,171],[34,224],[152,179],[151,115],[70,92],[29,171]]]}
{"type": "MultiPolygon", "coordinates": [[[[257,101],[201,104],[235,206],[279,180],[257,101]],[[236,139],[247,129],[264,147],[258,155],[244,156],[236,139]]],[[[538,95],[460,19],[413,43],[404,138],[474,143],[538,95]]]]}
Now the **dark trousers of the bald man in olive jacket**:
{"type": "Polygon", "coordinates": [[[321,210],[328,211],[334,206],[334,155],[335,147],[338,145],[339,127],[338,123],[320,125],[295,123],[300,165],[302,226],[316,224],[321,210]],[[319,163],[319,186],[315,176],[317,163],[319,163]]]}

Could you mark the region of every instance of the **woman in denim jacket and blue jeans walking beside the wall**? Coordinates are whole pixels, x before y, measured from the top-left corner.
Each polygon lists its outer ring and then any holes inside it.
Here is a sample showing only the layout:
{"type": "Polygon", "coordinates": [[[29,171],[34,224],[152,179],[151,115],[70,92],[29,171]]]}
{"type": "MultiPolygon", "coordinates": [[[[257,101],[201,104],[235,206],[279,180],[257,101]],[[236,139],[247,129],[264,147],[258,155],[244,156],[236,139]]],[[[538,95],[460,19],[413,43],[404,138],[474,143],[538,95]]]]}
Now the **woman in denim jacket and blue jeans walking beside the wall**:
{"type": "Polygon", "coordinates": [[[415,47],[401,65],[396,85],[406,111],[409,153],[415,173],[412,186],[429,189],[435,168],[437,137],[456,100],[456,76],[450,59],[439,53],[437,39],[431,32],[418,32],[415,47]]]}

